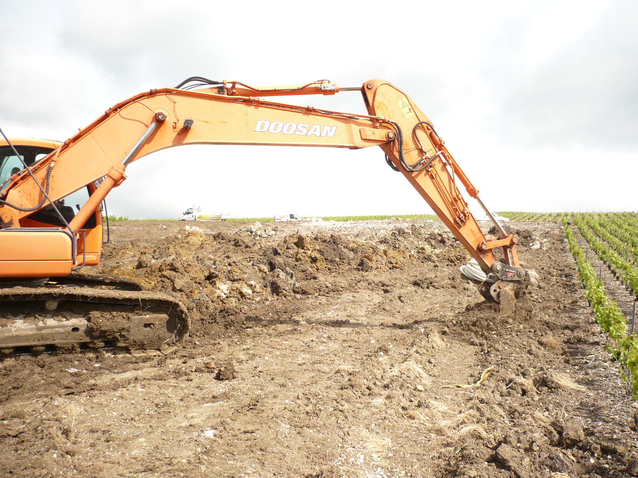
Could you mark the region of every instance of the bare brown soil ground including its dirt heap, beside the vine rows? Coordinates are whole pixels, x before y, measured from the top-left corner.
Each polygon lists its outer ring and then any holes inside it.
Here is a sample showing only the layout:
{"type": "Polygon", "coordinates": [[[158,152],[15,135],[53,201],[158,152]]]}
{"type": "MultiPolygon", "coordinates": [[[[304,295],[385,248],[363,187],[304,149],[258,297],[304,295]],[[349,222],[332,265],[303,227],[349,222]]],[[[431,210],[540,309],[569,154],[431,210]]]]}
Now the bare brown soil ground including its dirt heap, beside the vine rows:
{"type": "Polygon", "coordinates": [[[542,280],[516,317],[461,278],[441,222],[195,226],[116,223],[93,271],[186,305],[174,355],[0,364],[1,476],[638,475],[557,224],[510,223],[542,280]]]}

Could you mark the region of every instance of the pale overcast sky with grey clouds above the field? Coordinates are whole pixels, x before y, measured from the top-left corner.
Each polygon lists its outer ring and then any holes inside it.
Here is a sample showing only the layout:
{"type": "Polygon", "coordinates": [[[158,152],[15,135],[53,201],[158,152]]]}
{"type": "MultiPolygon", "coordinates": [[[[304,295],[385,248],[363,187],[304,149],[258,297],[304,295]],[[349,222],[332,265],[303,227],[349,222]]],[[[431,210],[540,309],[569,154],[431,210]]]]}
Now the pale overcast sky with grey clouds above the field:
{"type": "MultiPolygon", "coordinates": [[[[394,83],[493,210],[637,210],[638,2],[2,2],[0,127],[65,140],[188,76],[394,83]]],[[[357,92],[281,98],[366,113],[357,92]]],[[[430,213],[379,148],[184,146],[131,164],[109,213],[430,213]]],[[[478,206],[470,199],[470,206],[478,206]]]]}

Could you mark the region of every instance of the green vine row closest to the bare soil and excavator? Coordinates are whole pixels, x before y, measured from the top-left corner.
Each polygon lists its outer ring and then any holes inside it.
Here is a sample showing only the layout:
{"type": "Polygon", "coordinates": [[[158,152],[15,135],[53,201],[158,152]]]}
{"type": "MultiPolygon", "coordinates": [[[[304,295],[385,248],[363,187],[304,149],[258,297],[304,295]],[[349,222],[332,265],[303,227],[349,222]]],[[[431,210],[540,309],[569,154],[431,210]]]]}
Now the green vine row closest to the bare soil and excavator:
{"type": "Polygon", "coordinates": [[[635,334],[627,335],[625,315],[615,301],[607,298],[605,287],[598,280],[598,274],[587,260],[584,250],[578,246],[567,218],[563,218],[563,227],[578,267],[578,275],[585,287],[585,296],[591,303],[600,328],[611,338],[607,351],[621,365],[621,376],[631,387],[634,400],[638,400],[638,337],[635,334]]]}

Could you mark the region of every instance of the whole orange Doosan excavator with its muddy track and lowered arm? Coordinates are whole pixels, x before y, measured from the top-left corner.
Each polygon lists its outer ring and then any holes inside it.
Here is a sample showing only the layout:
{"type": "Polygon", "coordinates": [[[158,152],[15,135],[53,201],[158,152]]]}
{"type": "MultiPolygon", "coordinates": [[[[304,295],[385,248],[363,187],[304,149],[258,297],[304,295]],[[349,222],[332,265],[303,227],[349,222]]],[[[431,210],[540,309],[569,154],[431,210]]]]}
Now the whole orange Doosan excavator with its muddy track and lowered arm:
{"type": "Polygon", "coordinates": [[[483,205],[433,123],[394,85],[370,80],[339,87],[321,80],[251,87],[194,76],[118,103],[64,143],[0,141],[0,352],[167,352],[182,344],[189,318],[179,301],[130,280],[78,271],[100,262],[108,229],[104,201],[126,178],[127,166],[188,144],[378,146],[486,272],[480,286],[486,298],[513,300],[512,286],[528,273],[519,264],[517,237],[483,205]],[[368,114],[269,99],[344,91],[359,91],[368,114]],[[460,185],[479,201],[498,237],[482,233],[460,185]]]}

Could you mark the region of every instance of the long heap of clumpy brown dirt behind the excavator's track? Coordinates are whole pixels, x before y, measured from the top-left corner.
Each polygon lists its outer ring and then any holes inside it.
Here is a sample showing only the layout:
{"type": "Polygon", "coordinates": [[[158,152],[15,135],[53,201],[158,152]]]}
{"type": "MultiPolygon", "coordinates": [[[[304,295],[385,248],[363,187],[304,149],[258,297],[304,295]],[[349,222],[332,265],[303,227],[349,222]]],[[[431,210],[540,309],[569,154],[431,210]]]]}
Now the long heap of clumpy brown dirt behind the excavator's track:
{"type": "MultiPolygon", "coordinates": [[[[126,259],[107,272],[181,300],[191,314],[191,335],[197,337],[243,326],[246,317],[241,308],[246,303],[340,290],[331,279],[336,273],[401,269],[415,261],[434,261],[429,244],[452,240],[418,226],[392,229],[378,244],[328,231],[281,235],[278,228],[264,228],[258,222],[233,233],[186,226],[152,247],[134,240],[121,251],[126,259]],[[205,330],[198,330],[201,327],[205,330]]],[[[466,260],[463,249],[439,254],[451,263],[466,260]]]]}

